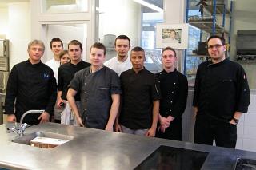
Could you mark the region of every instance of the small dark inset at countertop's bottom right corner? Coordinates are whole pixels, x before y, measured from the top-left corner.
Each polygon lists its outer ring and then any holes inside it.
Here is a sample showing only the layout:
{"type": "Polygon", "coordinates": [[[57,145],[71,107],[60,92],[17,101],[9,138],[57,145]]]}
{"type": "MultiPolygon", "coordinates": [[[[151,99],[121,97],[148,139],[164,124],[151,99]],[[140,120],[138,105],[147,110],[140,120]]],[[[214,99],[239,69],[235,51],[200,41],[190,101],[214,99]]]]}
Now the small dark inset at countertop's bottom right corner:
{"type": "Polygon", "coordinates": [[[256,160],[242,159],[237,160],[235,170],[256,170],[256,160]]]}

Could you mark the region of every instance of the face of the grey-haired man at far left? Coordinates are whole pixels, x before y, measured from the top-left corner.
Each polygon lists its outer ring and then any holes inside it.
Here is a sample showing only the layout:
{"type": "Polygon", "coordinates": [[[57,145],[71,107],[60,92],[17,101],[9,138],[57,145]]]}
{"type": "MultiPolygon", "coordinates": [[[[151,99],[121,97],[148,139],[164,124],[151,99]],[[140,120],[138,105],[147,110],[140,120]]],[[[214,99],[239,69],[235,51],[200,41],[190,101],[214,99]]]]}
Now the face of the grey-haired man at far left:
{"type": "Polygon", "coordinates": [[[35,45],[31,45],[30,49],[28,49],[27,52],[29,53],[30,61],[36,63],[41,60],[41,57],[44,53],[44,49],[42,45],[35,44],[35,45]]]}

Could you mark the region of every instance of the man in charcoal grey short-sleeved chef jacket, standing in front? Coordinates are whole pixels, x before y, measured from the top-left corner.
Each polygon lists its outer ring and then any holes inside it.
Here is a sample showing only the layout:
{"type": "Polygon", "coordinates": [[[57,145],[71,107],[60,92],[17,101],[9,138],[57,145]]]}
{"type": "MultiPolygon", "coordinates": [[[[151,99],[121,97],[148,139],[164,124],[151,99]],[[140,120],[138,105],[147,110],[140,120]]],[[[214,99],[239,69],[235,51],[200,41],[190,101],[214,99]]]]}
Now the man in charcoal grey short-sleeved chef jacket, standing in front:
{"type": "Polygon", "coordinates": [[[67,98],[79,125],[113,131],[121,89],[118,74],[103,65],[105,58],[105,46],[99,42],[94,43],[90,47],[91,65],[74,75],[67,98]],[[74,100],[78,92],[81,94],[82,117],[74,100]]]}

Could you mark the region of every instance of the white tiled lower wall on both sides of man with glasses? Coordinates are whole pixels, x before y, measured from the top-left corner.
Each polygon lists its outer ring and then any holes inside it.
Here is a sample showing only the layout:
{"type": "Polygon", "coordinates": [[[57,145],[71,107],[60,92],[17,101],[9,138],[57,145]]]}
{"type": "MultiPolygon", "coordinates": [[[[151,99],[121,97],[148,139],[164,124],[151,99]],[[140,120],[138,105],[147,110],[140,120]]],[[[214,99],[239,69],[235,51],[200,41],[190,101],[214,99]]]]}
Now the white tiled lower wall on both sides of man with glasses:
{"type": "MultiPolygon", "coordinates": [[[[182,115],[182,139],[194,142],[194,112],[192,108],[193,90],[189,91],[186,110],[182,115]]],[[[250,92],[248,113],[243,114],[238,123],[236,148],[256,152],[256,90],[250,92]]]]}

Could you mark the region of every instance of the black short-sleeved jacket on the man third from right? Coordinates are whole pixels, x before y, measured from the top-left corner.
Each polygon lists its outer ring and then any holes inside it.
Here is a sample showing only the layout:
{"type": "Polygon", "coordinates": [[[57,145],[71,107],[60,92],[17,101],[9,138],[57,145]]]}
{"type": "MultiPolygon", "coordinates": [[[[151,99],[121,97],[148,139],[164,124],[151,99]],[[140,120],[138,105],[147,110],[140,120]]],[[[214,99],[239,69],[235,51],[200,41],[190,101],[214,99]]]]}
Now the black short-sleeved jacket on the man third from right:
{"type": "Polygon", "coordinates": [[[134,69],[120,75],[122,109],[120,123],[130,129],[147,129],[152,125],[153,101],[160,100],[158,81],[145,68],[138,73],[134,69]]]}

